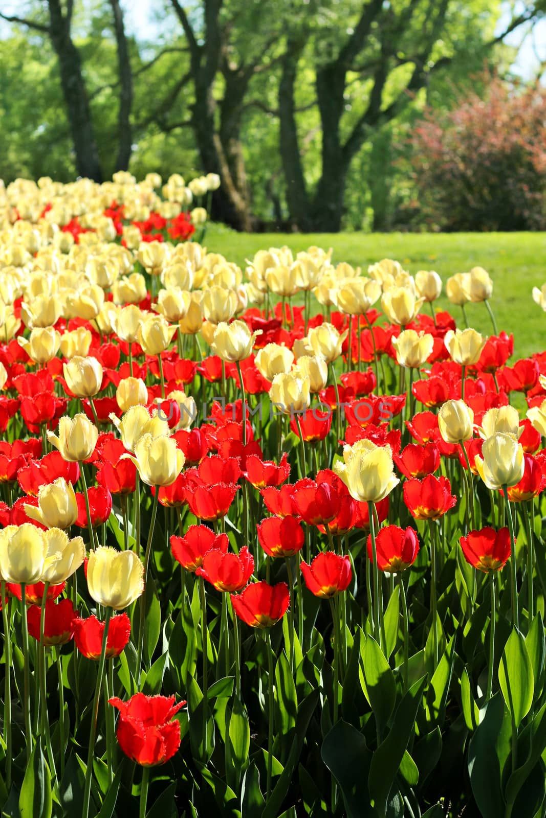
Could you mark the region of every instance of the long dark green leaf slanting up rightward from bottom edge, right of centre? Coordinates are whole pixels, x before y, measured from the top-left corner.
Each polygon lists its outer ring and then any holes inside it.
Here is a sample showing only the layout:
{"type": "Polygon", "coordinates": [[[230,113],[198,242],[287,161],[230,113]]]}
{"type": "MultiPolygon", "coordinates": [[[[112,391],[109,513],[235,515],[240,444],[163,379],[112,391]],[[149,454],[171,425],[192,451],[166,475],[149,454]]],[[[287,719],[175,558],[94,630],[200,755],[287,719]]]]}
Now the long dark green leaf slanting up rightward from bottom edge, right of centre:
{"type": "Polygon", "coordinates": [[[378,815],[384,815],[390,789],[404,758],[408,741],[415,730],[417,708],[425,689],[426,676],[416,681],[396,708],[392,727],[372,756],[368,774],[368,789],[378,815]]]}

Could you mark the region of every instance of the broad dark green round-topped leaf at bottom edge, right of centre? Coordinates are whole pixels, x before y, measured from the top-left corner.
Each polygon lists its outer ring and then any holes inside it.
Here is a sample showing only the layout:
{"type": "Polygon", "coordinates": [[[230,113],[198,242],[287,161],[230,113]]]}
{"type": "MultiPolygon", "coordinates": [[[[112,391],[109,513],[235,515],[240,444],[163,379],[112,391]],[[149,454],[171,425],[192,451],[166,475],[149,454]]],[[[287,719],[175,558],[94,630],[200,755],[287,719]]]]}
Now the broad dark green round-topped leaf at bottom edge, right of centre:
{"type": "Polygon", "coordinates": [[[372,752],[362,733],[341,719],[325,736],[320,753],[341,789],[347,818],[371,816],[367,772],[372,752]]]}

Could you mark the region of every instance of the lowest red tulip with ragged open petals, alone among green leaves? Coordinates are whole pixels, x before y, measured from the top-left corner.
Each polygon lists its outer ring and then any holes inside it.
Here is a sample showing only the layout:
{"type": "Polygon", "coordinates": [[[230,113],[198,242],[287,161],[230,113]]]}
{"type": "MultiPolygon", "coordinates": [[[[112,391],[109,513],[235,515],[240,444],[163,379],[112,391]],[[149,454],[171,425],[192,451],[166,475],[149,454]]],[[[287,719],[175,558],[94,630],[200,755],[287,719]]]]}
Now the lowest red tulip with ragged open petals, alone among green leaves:
{"type": "Polygon", "coordinates": [[[120,711],[116,738],[125,755],[141,766],[165,764],[180,747],[180,722],[174,715],[185,701],[174,696],[147,696],[137,693],[127,702],[109,699],[120,711]]]}

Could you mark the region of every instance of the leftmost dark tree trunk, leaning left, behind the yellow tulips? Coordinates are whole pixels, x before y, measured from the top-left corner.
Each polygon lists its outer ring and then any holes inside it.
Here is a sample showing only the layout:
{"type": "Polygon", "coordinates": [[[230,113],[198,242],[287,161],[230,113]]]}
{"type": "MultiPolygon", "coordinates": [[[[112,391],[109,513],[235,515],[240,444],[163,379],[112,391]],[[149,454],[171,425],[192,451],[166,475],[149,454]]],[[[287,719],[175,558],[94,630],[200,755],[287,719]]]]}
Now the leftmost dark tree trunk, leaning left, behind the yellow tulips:
{"type": "Polygon", "coordinates": [[[51,21],[50,37],[59,60],[61,87],[74,143],[76,169],[80,176],[102,182],[102,169],[88,94],[83,80],[78,49],[70,37],[70,19],[63,16],[60,0],[48,0],[51,21]]]}

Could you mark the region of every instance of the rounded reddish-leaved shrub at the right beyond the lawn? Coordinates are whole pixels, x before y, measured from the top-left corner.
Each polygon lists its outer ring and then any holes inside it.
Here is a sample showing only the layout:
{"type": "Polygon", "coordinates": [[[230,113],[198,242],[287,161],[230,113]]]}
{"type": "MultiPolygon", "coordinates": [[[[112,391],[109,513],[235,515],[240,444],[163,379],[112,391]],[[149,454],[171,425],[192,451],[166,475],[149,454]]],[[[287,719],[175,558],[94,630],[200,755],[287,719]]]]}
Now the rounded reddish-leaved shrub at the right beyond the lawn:
{"type": "Polygon", "coordinates": [[[494,79],[413,133],[417,209],[442,230],[544,230],[546,92],[494,79]]]}

